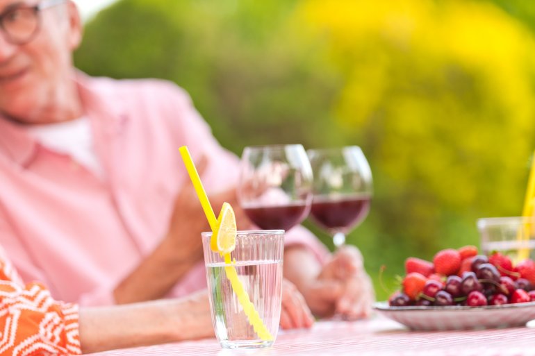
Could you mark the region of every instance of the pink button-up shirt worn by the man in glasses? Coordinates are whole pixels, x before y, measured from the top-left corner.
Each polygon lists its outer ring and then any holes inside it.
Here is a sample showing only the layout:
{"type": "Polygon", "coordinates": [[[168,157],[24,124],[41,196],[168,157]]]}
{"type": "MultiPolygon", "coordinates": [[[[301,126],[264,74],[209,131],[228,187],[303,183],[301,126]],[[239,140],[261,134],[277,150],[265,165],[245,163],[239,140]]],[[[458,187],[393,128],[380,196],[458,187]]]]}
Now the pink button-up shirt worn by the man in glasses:
{"type": "MultiPolygon", "coordinates": [[[[238,159],[172,83],[76,79],[105,178],[0,117],[0,245],[25,282],[42,282],[59,300],[108,305],[165,235],[181,185],[191,184],[179,147],[210,159],[208,193],[236,182],[238,159]]],[[[304,228],[288,233],[286,244],[302,244],[320,260],[327,253],[304,228]]],[[[205,286],[199,262],[170,296],[205,286]]]]}

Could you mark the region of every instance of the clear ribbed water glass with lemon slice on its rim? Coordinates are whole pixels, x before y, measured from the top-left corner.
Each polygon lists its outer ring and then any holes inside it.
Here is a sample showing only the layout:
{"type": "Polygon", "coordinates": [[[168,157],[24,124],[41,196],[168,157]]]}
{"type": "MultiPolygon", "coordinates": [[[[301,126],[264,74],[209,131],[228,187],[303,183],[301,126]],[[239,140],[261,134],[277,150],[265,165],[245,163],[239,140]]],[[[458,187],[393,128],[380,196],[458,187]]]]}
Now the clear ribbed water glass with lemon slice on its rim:
{"type": "MultiPolygon", "coordinates": [[[[222,348],[272,346],[281,317],[283,230],[238,231],[231,264],[210,248],[212,232],[202,233],[206,280],[215,336],[222,348]],[[262,339],[247,317],[243,299],[231,285],[231,275],[258,312],[272,339],[262,339]]],[[[242,296],[243,297],[243,296],[242,296]]],[[[252,310],[252,312],[254,312],[252,310]]]]}

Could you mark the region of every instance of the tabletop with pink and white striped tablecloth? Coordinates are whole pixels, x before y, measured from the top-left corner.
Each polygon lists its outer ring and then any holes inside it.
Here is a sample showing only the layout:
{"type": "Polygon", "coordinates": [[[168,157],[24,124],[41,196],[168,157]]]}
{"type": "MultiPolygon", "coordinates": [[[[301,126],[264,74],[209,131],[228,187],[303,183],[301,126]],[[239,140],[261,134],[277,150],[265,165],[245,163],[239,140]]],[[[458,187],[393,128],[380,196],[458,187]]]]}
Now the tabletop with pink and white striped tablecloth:
{"type": "MultiPolygon", "coordinates": [[[[530,322],[531,323],[531,322],[530,322]]],[[[528,323],[529,325],[529,323],[528,323]]],[[[94,353],[93,356],[535,356],[535,329],[413,332],[377,316],[368,321],[319,321],[311,330],[279,332],[272,348],[222,350],[215,339],[94,353]]]]}

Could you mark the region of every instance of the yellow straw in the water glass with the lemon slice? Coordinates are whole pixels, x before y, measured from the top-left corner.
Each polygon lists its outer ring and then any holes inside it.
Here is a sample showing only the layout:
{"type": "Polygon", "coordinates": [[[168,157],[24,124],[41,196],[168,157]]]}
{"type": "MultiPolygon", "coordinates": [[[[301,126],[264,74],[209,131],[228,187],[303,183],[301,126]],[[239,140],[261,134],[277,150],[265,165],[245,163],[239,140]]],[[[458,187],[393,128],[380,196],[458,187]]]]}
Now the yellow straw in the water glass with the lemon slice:
{"type": "MultiPolygon", "coordinates": [[[[218,226],[217,226],[217,218],[215,217],[215,214],[212,209],[212,205],[210,204],[210,201],[208,200],[208,196],[206,195],[206,192],[204,191],[204,187],[201,183],[201,178],[199,178],[199,173],[197,173],[197,169],[195,168],[195,164],[193,163],[193,160],[191,159],[190,151],[188,151],[188,147],[182,146],[180,149],[180,154],[182,155],[182,160],[184,161],[184,164],[186,164],[186,169],[188,170],[188,173],[190,175],[190,179],[193,183],[193,187],[195,187],[195,192],[197,192],[197,196],[199,197],[199,201],[201,201],[202,208],[204,210],[204,214],[206,215],[206,219],[208,219],[208,223],[210,223],[210,228],[212,229],[212,233],[215,234],[218,226]]],[[[242,306],[243,312],[245,312],[245,315],[247,316],[247,320],[249,320],[249,324],[252,325],[254,331],[256,334],[258,334],[258,337],[260,337],[264,341],[271,341],[273,340],[272,335],[270,334],[270,331],[268,328],[265,327],[265,324],[263,323],[260,315],[256,310],[254,309],[253,303],[251,303],[251,300],[249,300],[249,294],[245,291],[243,288],[242,282],[240,281],[240,278],[238,277],[238,273],[236,272],[236,268],[231,264],[231,255],[230,253],[224,254],[224,261],[225,261],[225,273],[227,274],[227,278],[231,282],[232,289],[236,296],[238,296],[238,302],[242,306]]]]}

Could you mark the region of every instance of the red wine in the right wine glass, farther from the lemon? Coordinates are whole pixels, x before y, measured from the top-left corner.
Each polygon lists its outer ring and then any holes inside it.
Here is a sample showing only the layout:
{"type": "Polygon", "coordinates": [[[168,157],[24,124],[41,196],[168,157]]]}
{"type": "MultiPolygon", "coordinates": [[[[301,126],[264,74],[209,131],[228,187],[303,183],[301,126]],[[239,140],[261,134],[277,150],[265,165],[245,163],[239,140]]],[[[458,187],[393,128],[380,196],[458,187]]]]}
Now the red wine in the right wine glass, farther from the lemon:
{"type": "Polygon", "coordinates": [[[371,196],[352,196],[337,200],[312,201],[311,215],[326,229],[346,231],[364,220],[370,211],[371,196]]]}

